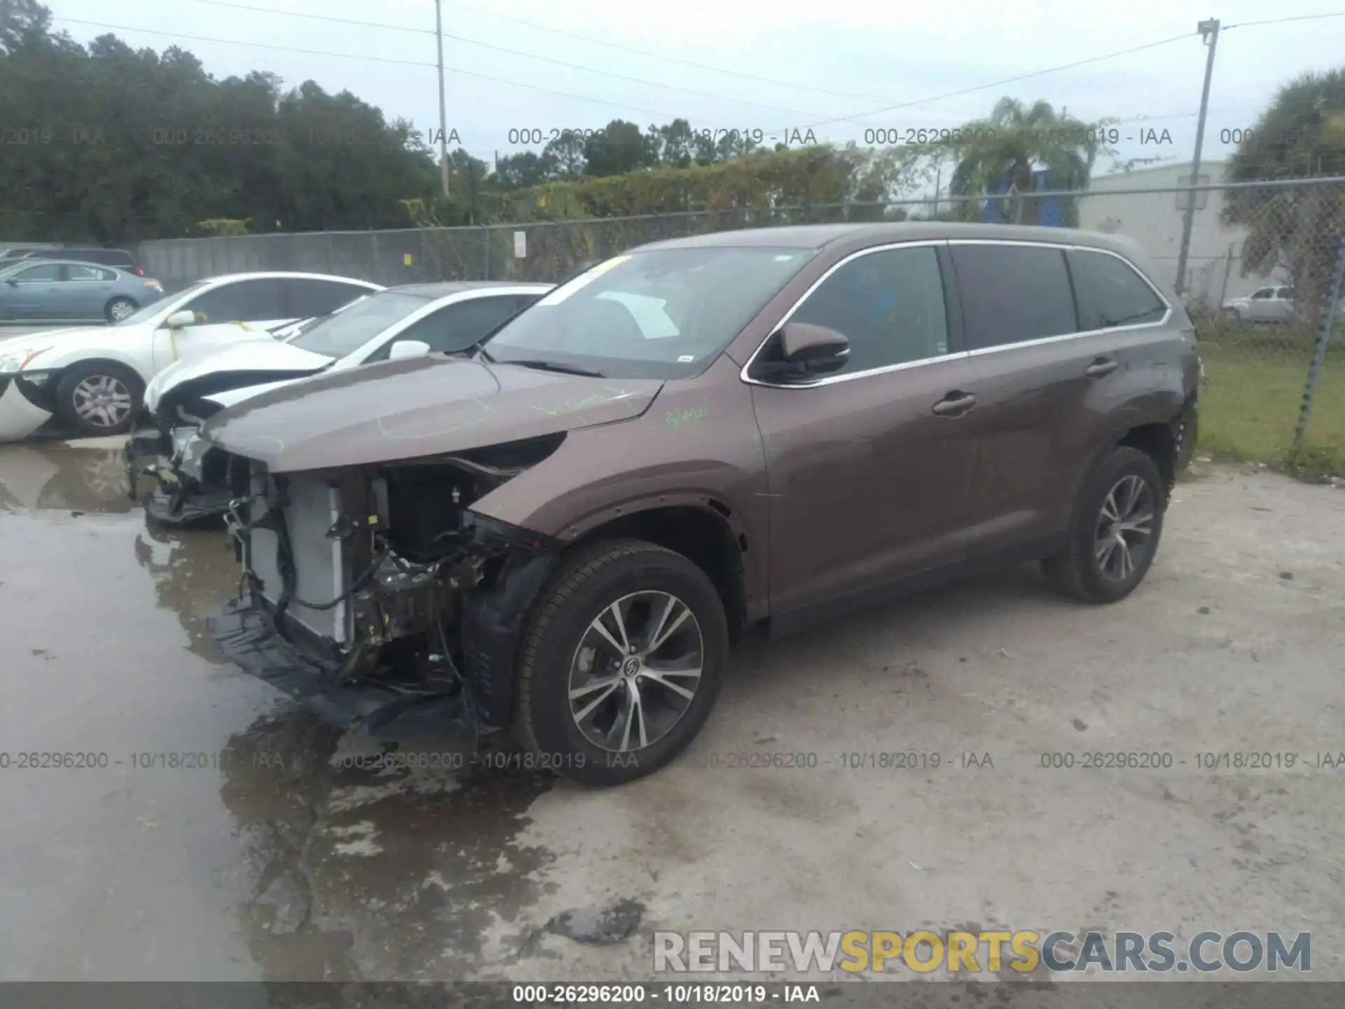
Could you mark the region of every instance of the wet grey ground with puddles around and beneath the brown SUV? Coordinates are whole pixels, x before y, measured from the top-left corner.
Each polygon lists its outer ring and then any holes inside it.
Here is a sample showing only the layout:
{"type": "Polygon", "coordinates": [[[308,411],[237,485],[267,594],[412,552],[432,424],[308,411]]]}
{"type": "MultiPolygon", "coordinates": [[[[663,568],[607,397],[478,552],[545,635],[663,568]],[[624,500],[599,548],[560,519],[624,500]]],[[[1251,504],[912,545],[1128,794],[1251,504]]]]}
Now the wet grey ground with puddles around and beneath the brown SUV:
{"type": "Polygon", "coordinates": [[[215,652],[223,531],[77,444],[0,445],[0,981],[650,978],[654,928],[917,924],[1311,928],[1345,977],[1345,771],[1040,763],[1345,751],[1345,490],[1206,468],[1119,607],[1015,569],[749,643],[687,755],[584,791],[373,765],[215,652]],[[942,767],[845,765],[893,751],[942,767]]]}

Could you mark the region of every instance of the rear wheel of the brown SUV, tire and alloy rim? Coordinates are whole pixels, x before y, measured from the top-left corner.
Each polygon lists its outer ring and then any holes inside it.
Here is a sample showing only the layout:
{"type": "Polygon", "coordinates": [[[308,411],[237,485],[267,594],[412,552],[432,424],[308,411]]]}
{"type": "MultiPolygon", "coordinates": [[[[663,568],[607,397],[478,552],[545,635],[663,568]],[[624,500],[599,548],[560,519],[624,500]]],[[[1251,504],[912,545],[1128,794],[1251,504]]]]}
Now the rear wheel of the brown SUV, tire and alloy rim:
{"type": "Polygon", "coordinates": [[[1158,550],[1167,495],[1154,460],[1112,449],[1079,496],[1069,541],[1042,562],[1046,577],[1084,603],[1115,603],[1143,581],[1158,550]]]}

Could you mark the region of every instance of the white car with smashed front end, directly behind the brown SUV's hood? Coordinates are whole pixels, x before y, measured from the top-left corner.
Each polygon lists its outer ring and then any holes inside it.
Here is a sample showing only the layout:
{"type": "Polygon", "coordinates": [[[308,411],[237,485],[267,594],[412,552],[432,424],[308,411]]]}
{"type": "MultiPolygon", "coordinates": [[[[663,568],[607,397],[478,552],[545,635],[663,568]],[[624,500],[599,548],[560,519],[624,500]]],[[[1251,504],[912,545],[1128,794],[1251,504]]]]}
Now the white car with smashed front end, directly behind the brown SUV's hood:
{"type": "Polygon", "coordinates": [[[200,487],[178,468],[207,417],[319,371],[465,351],[551,288],[502,281],[408,284],[277,331],[274,339],[258,335],[179,361],[149,383],[147,425],[126,443],[132,492],[141,474],[152,474],[159,480],[145,499],[152,517],[179,523],[219,514],[231,496],[229,488],[200,487]]]}

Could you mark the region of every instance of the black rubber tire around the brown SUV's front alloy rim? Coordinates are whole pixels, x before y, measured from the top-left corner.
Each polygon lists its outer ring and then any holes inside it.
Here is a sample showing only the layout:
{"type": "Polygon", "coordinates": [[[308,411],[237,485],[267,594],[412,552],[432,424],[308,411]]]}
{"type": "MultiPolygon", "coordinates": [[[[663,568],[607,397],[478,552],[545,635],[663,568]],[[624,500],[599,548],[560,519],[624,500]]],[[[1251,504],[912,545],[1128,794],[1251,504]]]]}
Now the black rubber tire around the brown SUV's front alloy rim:
{"type": "MultiPolygon", "coordinates": [[[[613,786],[643,778],[695,739],[718,697],[728,652],[724,603],[705,572],[686,557],[640,539],[581,546],[542,589],[525,630],[515,675],[514,735],[539,765],[580,784],[613,786]],[[664,735],[620,753],[594,744],[577,724],[570,708],[572,663],[580,661],[590,622],[615,601],[642,592],[668,593],[690,609],[701,635],[701,674],[694,696],[664,735]]],[[[607,658],[615,662],[609,654],[607,658]]],[[[629,685],[619,686],[624,690],[629,685]]],[[[632,693],[651,698],[651,704],[658,697],[672,700],[662,686],[646,685],[643,690],[647,693],[632,693]]],[[[620,697],[613,696],[615,705],[620,697]]],[[[639,725],[644,724],[642,718],[639,725]]]]}

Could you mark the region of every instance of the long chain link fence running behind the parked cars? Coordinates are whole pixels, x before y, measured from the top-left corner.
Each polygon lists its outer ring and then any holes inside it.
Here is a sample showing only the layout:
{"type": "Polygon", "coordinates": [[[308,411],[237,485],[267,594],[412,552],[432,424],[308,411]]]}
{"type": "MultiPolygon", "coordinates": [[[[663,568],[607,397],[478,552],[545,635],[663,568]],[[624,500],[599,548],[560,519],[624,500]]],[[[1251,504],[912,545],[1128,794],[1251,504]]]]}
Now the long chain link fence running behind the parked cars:
{"type": "Polygon", "coordinates": [[[1345,475],[1345,179],[691,210],[581,221],[145,242],[168,289],[246,270],[339,273],[378,284],[561,281],[646,242],[741,227],[976,221],[1083,227],[1135,239],[1196,320],[1206,385],[1200,448],[1221,457],[1345,475]],[[1177,277],[1186,202],[1196,211],[1177,277]],[[1332,308],[1334,305],[1334,308],[1332,308]],[[1309,377],[1311,375],[1311,381],[1309,377]]]}

